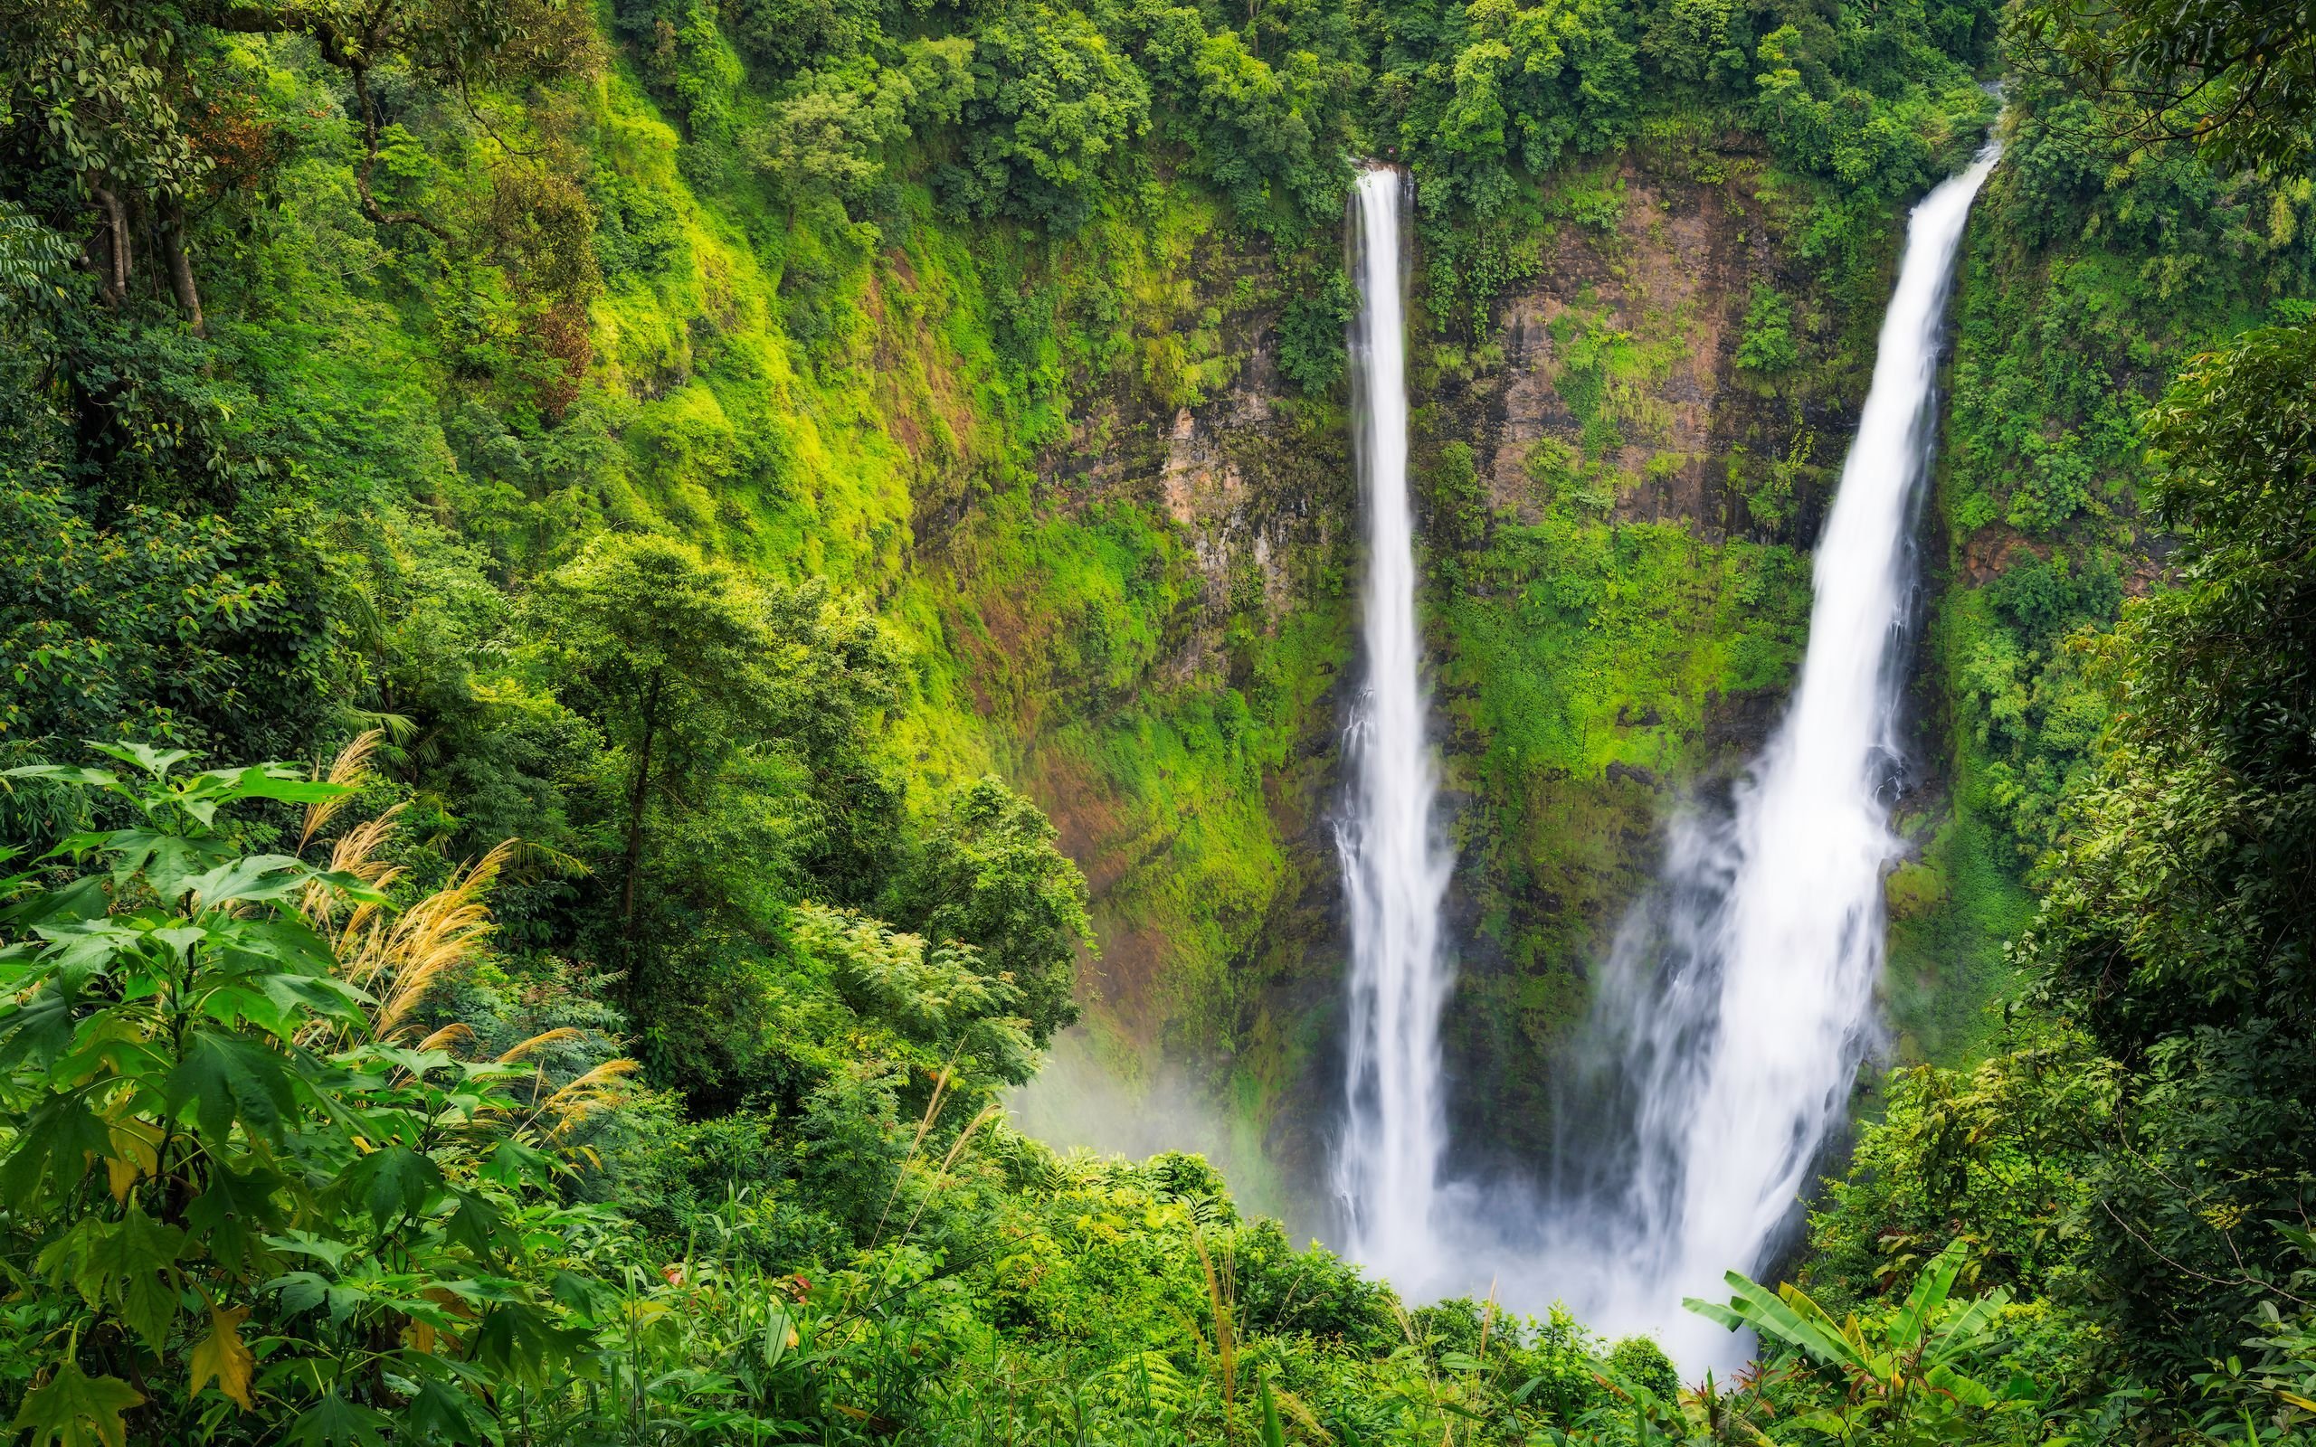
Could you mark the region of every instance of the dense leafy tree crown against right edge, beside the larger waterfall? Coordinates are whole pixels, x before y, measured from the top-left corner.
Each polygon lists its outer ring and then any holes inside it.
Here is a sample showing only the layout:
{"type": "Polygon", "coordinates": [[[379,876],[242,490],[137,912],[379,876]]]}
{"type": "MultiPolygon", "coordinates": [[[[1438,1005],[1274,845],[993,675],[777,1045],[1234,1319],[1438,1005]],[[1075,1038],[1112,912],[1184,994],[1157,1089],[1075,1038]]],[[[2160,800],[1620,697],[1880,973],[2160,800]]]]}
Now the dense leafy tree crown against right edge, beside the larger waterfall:
{"type": "Polygon", "coordinates": [[[2110,644],[2117,727],[2033,949],[2110,1051],[2316,1026],[2316,329],[2249,333],[2149,410],[2177,586],[2110,644]]]}

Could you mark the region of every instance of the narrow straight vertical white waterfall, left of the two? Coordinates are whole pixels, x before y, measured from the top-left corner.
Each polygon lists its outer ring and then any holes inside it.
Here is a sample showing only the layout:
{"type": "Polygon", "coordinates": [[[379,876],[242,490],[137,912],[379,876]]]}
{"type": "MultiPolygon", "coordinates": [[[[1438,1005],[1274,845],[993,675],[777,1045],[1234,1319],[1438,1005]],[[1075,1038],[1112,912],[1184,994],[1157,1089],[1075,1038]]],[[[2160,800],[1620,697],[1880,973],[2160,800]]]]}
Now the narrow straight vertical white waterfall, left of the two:
{"type": "Polygon", "coordinates": [[[1346,752],[1355,785],[1336,824],[1350,912],[1346,1118],[1334,1162],[1346,1250],[1417,1297],[1438,1276],[1438,1174],[1448,1141],[1441,956],[1450,854],[1424,739],[1415,623],[1415,516],[1408,505],[1408,384],[1401,280],[1406,178],[1369,169],[1353,197],[1359,317],[1350,331],[1355,461],[1366,502],[1366,688],[1346,752]]]}

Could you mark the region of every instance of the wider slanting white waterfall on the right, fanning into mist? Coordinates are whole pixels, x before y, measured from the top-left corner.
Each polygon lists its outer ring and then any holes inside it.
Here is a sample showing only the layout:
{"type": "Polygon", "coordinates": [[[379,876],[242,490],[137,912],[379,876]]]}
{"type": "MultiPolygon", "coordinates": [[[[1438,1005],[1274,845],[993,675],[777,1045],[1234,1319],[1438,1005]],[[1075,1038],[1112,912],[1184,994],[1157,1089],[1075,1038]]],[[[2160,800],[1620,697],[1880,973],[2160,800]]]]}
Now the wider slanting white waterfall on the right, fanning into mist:
{"type": "Polygon", "coordinates": [[[1874,1037],[1911,532],[1955,252],[1994,160],[1989,144],[1913,211],[1818,539],[1793,702],[1730,808],[1674,827],[1600,982],[1593,1065],[1563,1102],[1547,1269],[1596,1327],[1656,1331],[1691,1371],[1744,1343],[1681,1297],[1725,1297],[1723,1271],[1772,1264],[1874,1037]]]}

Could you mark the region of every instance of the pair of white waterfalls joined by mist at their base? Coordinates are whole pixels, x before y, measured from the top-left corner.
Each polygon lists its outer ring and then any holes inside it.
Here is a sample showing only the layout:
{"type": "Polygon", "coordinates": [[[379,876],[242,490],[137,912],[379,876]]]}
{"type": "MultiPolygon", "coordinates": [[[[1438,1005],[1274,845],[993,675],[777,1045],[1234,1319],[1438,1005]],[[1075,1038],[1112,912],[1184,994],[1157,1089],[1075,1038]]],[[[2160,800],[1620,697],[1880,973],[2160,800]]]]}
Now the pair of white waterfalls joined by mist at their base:
{"type": "Polygon", "coordinates": [[[1744,1343],[1681,1310],[1758,1273],[1825,1167],[1874,1040],[1883,873],[1911,530],[1936,440],[1934,389],[1955,252],[1994,146],[1925,197],[1883,317],[1874,382],[1816,549],[1809,653],[1765,752],[1718,810],[1674,820],[1658,887],[1598,975],[1561,1144],[1540,1185],[1450,1183],[1438,1044],[1452,965],[1450,852],[1415,620],[1408,509],[1401,199],[1359,178],[1353,333],[1366,500],[1366,690],[1339,829],[1350,905],[1350,1035],[1336,1188],[1346,1248],[1401,1292],[1505,1283],[1519,1310],[1566,1299],[1607,1334],[1649,1331],[1688,1371],[1744,1343]]]}

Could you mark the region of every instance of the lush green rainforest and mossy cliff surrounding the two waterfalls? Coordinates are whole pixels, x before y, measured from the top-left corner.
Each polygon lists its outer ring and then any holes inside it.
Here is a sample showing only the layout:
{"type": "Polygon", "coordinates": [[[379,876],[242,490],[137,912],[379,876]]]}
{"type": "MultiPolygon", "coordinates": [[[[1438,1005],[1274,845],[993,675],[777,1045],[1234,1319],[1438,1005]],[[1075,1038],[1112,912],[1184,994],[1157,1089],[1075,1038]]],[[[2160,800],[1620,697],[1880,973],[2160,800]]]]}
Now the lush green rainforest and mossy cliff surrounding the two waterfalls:
{"type": "Polygon", "coordinates": [[[0,1419],[2316,1442],[2311,86],[2297,0],[0,0],[0,1419]],[[1758,1361],[1401,1301],[1311,1241],[1355,167],[1536,1160],[1989,130],[1758,1361]]]}

